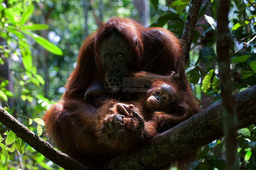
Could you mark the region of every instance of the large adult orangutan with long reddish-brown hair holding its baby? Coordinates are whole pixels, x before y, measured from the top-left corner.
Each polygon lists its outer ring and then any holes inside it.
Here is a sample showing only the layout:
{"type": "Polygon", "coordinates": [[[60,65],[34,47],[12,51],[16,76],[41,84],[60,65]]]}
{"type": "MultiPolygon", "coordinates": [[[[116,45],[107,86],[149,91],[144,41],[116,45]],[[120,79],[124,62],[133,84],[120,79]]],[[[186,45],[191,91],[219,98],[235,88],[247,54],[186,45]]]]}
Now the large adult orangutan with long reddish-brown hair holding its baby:
{"type": "Polygon", "coordinates": [[[155,130],[157,121],[143,119],[138,119],[143,124],[138,130],[121,131],[122,126],[109,132],[101,130],[102,120],[119,119],[108,114],[117,100],[127,103],[137,97],[122,92],[122,83],[106,80],[122,82],[140,70],[158,75],[179,72],[177,90],[186,92],[189,106],[198,108],[185,76],[180,41],[166,29],[145,28],[131,19],[113,17],[85,39],[62,100],[43,116],[49,141],[89,169],[101,169],[111,158],[159,133],[155,130]],[[115,91],[109,92],[105,86],[115,91]],[[104,103],[110,99],[115,102],[104,103]]]}

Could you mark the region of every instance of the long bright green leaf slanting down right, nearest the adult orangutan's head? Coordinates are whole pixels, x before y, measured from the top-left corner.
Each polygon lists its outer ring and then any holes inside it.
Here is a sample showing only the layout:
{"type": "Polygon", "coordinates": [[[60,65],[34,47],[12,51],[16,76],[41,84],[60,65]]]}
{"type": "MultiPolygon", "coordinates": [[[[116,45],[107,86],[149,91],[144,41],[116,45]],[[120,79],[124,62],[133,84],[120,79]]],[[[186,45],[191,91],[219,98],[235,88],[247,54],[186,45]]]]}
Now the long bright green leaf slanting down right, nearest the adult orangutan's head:
{"type": "Polygon", "coordinates": [[[45,38],[34,34],[34,33],[30,33],[30,35],[32,36],[32,38],[35,39],[35,41],[40,44],[43,48],[45,48],[46,50],[50,51],[51,53],[54,53],[56,55],[63,55],[61,49],[59,47],[57,47],[56,45],[54,45],[53,43],[51,43],[50,41],[46,40],[45,38]]]}

